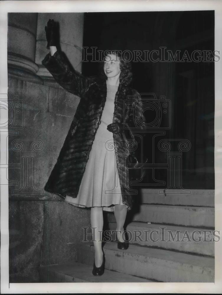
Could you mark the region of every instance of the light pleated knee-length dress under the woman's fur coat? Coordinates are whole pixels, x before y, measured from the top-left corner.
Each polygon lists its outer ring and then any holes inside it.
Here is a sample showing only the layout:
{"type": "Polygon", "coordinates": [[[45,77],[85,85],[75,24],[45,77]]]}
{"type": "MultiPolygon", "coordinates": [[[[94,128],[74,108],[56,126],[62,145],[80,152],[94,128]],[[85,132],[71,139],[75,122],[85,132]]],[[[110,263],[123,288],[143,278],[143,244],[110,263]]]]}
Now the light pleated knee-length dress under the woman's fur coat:
{"type": "MultiPolygon", "coordinates": [[[[113,212],[115,204],[123,205],[119,174],[117,171],[112,123],[117,86],[109,85],[107,97],[89,159],[76,198],[66,196],[65,201],[76,207],[103,207],[113,212]]],[[[125,205],[127,207],[127,205],[125,205]]]]}

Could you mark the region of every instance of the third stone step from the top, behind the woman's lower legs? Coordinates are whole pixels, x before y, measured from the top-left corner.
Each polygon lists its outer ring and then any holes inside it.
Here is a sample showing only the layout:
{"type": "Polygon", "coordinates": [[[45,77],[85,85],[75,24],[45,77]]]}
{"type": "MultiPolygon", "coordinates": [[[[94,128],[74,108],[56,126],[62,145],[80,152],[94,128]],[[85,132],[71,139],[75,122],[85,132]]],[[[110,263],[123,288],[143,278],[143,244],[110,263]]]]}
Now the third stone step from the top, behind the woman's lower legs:
{"type": "MultiPolygon", "coordinates": [[[[112,240],[115,240],[116,222],[109,222],[108,225],[112,240]]],[[[126,230],[129,242],[133,244],[137,243],[149,247],[173,249],[209,256],[214,256],[213,239],[218,240],[213,235],[214,230],[195,227],[131,222],[127,225],[126,230]]],[[[217,232],[215,234],[218,235],[217,232]]]]}

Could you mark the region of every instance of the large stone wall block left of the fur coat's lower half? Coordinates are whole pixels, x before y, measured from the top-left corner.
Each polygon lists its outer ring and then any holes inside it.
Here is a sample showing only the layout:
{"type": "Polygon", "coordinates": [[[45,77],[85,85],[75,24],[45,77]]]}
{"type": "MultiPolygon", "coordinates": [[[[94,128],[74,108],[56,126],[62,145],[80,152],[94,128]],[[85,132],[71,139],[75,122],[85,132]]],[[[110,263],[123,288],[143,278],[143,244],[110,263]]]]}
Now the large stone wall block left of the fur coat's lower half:
{"type": "MultiPolygon", "coordinates": [[[[25,113],[24,128],[19,131],[18,135],[9,136],[9,163],[12,168],[9,169],[9,180],[17,181],[17,185],[9,186],[9,194],[12,190],[21,187],[22,167],[27,168],[27,159],[34,158],[33,173],[29,170],[25,174],[25,187],[28,181],[34,181],[35,188],[43,190],[45,183],[50,176],[59,152],[63,146],[68,129],[71,125],[72,118],[65,117],[51,112],[29,111],[25,113]],[[36,145],[34,143],[36,142],[36,145]],[[24,148],[22,148],[24,146],[24,148]],[[33,155],[30,155],[30,152],[33,155]],[[21,158],[25,159],[23,162],[21,158]],[[33,180],[34,178],[34,180],[33,180]]],[[[31,160],[29,160],[31,161],[31,160]]],[[[36,191],[29,185],[26,194],[34,199],[45,199],[50,193],[36,191]],[[37,193],[37,194],[34,194],[37,193]]],[[[23,190],[24,192],[24,190],[23,190]]],[[[19,192],[20,196],[22,191],[19,192]]],[[[13,194],[14,198],[20,198],[19,195],[13,194]]],[[[52,197],[52,199],[55,199],[52,197]]],[[[58,199],[56,197],[56,199],[58,199]]]]}

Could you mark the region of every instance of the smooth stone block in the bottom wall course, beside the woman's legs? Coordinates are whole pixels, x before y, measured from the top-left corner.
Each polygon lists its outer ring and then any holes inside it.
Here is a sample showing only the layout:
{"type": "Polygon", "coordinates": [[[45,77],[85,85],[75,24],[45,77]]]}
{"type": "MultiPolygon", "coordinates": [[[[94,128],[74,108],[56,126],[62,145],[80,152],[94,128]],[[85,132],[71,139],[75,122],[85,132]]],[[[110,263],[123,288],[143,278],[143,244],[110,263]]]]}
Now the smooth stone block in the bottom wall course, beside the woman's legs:
{"type": "Polygon", "coordinates": [[[45,201],[44,212],[42,265],[76,261],[76,244],[84,240],[82,227],[90,227],[90,209],[45,201]]]}

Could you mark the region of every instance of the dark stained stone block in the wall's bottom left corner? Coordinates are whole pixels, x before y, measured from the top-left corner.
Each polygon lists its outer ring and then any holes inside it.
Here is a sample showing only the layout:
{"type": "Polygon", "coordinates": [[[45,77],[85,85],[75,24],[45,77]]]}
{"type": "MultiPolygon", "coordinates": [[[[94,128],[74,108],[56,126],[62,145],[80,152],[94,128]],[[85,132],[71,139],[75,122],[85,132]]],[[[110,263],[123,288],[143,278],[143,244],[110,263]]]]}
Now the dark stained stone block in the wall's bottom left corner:
{"type": "Polygon", "coordinates": [[[43,201],[9,201],[10,283],[39,281],[43,209],[43,201]]]}

